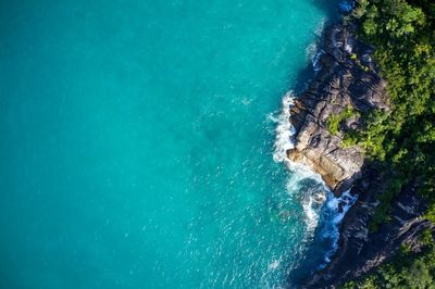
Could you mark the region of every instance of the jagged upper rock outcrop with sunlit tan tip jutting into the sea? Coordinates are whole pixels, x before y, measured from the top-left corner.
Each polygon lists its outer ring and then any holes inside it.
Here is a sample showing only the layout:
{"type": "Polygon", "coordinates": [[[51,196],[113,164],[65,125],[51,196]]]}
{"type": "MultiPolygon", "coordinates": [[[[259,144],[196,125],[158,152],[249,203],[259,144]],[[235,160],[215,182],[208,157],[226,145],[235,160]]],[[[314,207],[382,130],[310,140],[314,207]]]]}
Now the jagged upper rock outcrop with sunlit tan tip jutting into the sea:
{"type": "Polygon", "coordinates": [[[315,58],[316,76],[290,109],[290,122],[297,134],[288,158],[312,167],[337,193],[361,176],[362,151],[341,144],[344,133],[358,128],[361,120],[351,117],[343,122],[335,136],[327,129],[328,117],[349,106],[361,114],[375,108],[388,109],[385,83],[370,58],[373,49],[355,39],[351,30],[343,25],[326,30],[324,47],[315,58]]]}

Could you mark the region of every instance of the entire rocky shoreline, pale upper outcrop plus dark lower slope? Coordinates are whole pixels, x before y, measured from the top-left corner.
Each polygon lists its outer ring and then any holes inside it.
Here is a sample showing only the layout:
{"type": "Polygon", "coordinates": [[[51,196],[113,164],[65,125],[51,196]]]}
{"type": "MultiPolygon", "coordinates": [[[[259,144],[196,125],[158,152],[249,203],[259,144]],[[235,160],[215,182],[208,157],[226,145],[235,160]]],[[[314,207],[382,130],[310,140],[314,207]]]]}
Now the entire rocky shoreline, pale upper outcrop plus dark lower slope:
{"type": "Polygon", "coordinates": [[[339,23],[325,29],[314,65],[316,74],[289,108],[296,134],[288,159],[319,173],[336,196],[348,189],[359,196],[340,224],[339,249],[304,288],[335,288],[357,279],[389,260],[402,243],[418,252],[421,243],[417,237],[432,226],[421,217],[424,204],[410,186],[394,200],[391,222],[376,233],[369,230],[377,205],[375,197],[385,190],[383,172],[360,148],[346,148],[343,139],[347,131],[363,125],[360,115],[373,109],[388,111],[389,105],[386,83],[371,58],[374,48],[356,38],[356,24],[339,23]],[[358,113],[333,134],[328,118],[347,109],[358,113]]]}

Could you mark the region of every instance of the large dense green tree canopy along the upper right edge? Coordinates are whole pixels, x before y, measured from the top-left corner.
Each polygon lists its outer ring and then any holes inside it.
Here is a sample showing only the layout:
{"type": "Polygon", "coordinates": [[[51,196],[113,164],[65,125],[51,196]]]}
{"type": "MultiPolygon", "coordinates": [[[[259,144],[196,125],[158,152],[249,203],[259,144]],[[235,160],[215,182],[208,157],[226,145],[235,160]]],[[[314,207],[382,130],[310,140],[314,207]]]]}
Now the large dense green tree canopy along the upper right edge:
{"type": "Polygon", "coordinates": [[[383,163],[389,179],[372,229],[388,219],[390,201],[411,181],[435,221],[435,1],[360,0],[352,17],[361,23],[360,36],[376,47],[391,105],[369,115],[358,137],[345,139],[383,163]]]}

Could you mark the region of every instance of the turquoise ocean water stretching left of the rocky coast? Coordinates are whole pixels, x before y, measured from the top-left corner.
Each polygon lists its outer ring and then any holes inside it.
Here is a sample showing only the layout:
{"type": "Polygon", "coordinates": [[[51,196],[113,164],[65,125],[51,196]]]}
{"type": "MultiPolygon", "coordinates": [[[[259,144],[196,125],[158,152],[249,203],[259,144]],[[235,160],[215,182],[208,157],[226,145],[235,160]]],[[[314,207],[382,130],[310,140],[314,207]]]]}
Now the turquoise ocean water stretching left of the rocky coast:
{"type": "Polygon", "coordinates": [[[309,277],[324,187],[276,128],[335,5],[0,1],[0,287],[309,277]]]}

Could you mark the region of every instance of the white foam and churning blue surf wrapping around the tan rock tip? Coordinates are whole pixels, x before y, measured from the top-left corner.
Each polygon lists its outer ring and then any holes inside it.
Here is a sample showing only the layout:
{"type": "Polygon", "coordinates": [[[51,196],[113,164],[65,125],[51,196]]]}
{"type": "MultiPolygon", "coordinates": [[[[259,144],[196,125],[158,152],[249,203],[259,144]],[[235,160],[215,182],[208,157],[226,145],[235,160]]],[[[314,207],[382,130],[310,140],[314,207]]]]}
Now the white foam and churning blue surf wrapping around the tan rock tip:
{"type": "MultiPolygon", "coordinates": [[[[290,108],[295,105],[295,98],[291,91],[287,92],[283,98],[281,114],[272,117],[276,123],[273,159],[275,162],[285,163],[290,171],[287,191],[290,198],[296,197],[301,203],[307,225],[307,238],[310,239],[321,224],[321,237],[331,243],[331,250],[324,257],[326,264],[338,248],[338,225],[358,196],[351,196],[349,189],[336,198],[319,174],[287,158],[287,151],[295,148],[296,130],[290,123],[290,108]]],[[[322,264],[321,267],[325,264],[322,264]]]]}

